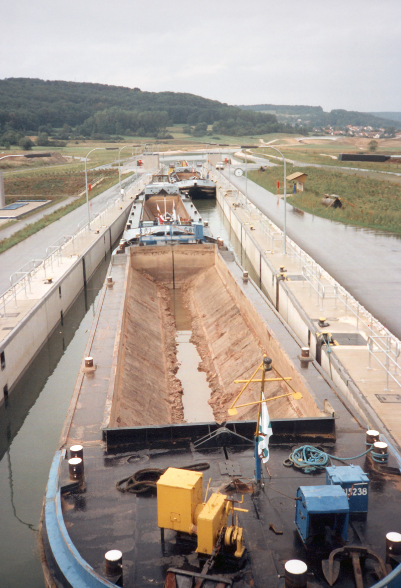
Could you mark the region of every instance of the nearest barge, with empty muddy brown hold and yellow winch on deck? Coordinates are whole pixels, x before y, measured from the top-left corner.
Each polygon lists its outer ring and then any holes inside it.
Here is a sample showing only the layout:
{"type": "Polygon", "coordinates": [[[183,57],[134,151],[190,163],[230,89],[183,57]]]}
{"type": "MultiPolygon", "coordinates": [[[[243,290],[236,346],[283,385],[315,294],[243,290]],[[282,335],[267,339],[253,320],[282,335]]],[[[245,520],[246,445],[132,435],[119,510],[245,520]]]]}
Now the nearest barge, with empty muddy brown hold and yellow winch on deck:
{"type": "Polygon", "coordinates": [[[400,489],[221,242],[113,257],[49,475],[48,586],[397,586],[400,489]]]}

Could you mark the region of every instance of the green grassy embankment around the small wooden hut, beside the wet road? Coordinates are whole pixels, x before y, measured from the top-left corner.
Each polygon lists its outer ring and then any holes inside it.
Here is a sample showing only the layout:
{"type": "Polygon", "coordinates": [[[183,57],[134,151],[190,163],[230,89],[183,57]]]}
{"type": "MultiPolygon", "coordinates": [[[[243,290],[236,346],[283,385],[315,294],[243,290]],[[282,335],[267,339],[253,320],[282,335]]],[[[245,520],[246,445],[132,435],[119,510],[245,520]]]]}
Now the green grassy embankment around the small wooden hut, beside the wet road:
{"type": "MultiPolygon", "coordinates": [[[[399,186],[389,181],[344,174],[312,167],[287,165],[287,176],[293,172],[307,173],[305,191],[293,195],[293,183],[287,183],[287,201],[296,208],[347,225],[386,230],[401,234],[401,198],[399,186]],[[343,207],[327,208],[320,203],[324,194],[342,198],[343,207]]],[[[283,193],[283,166],[266,171],[248,172],[248,178],[274,194],[277,180],[283,193]]]]}

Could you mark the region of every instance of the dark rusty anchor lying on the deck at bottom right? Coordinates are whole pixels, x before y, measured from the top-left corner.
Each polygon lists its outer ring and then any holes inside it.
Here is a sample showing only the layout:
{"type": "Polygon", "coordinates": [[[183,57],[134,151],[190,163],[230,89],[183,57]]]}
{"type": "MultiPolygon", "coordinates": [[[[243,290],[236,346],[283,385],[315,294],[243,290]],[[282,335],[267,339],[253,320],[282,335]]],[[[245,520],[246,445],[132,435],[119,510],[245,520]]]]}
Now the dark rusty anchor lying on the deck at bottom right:
{"type": "Polygon", "coordinates": [[[339,549],[334,549],[332,553],[330,553],[329,559],[322,560],[323,574],[327,582],[330,584],[330,586],[333,586],[334,582],[336,582],[337,578],[339,577],[340,562],[336,562],[334,560],[334,557],[336,557],[339,554],[341,556],[341,559],[352,559],[356,588],[363,588],[360,557],[363,557],[364,559],[370,557],[370,559],[374,560],[375,563],[373,564],[373,566],[375,567],[375,572],[377,574],[377,577],[379,577],[379,580],[381,580],[387,575],[385,562],[383,562],[380,556],[370,551],[370,549],[367,549],[367,547],[349,545],[347,547],[340,547],[339,549]]]}

